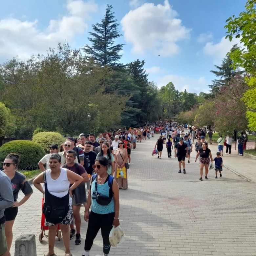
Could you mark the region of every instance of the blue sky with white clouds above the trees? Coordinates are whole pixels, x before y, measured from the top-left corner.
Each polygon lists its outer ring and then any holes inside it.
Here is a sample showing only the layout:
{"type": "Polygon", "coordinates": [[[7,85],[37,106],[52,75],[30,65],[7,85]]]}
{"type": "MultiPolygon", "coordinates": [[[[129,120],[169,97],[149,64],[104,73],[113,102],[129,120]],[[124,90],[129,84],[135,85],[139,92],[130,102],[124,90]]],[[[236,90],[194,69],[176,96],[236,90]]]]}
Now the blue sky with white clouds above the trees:
{"type": "Polygon", "coordinates": [[[213,65],[239,43],[224,39],[224,25],[244,10],[245,0],[1,0],[0,62],[46,53],[58,42],[80,48],[107,4],[123,34],[117,40],[125,43],[122,63],[145,60],[149,80],[159,87],[173,82],[179,91],[200,93],[214,79],[213,65]]]}

